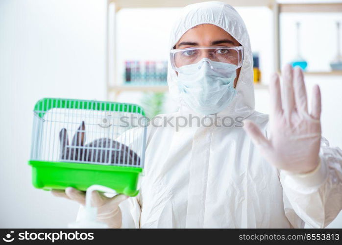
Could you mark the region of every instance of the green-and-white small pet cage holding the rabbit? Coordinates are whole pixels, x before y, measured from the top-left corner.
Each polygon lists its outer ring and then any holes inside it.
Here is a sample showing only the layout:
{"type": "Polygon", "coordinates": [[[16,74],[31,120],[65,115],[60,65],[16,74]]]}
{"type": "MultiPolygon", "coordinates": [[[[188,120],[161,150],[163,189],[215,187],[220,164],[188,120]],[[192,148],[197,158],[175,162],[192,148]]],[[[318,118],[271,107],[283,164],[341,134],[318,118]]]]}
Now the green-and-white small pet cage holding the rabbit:
{"type": "Polygon", "coordinates": [[[146,147],[147,125],[139,124],[143,117],[143,109],[134,104],[39,100],[29,160],[33,185],[85,191],[98,184],[136,196],[146,147]]]}

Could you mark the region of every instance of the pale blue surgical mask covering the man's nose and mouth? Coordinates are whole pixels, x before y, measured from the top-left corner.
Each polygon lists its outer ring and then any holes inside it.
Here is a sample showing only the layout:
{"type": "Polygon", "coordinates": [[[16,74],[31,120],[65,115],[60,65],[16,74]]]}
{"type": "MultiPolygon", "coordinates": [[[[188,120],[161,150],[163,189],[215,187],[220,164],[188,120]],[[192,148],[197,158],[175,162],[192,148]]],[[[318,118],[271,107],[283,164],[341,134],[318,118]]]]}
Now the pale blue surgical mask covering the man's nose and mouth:
{"type": "Polygon", "coordinates": [[[203,58],[196,64],[178,69],[177,84],[181,98],[199,114],[222,111],[236,95],[235,65],[203,58]]]}

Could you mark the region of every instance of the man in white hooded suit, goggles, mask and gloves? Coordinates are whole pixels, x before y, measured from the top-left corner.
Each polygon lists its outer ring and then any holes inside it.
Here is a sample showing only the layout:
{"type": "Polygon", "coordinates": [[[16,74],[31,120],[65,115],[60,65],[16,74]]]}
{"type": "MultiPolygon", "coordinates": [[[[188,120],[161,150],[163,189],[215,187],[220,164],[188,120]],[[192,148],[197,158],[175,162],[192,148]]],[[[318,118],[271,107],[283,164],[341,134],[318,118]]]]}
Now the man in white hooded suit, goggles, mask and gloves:
{"type": "MultiPolygon", "coordinates": [[[[237,11],[219,1],[186,6],[169,48],[168,84],[179,110],[148,127],[138,196],[93,193],[98,220],[111,228],[333,221],[342,207],[342,150],[321,138],[319,87],[308,112],[303,73],[285,66],[282,93],[278,75],[270,80],[270,118],[256,112],[248,33],[237,11]]],[[[84,205],[73,188],[53,194],[84,205]]]]}

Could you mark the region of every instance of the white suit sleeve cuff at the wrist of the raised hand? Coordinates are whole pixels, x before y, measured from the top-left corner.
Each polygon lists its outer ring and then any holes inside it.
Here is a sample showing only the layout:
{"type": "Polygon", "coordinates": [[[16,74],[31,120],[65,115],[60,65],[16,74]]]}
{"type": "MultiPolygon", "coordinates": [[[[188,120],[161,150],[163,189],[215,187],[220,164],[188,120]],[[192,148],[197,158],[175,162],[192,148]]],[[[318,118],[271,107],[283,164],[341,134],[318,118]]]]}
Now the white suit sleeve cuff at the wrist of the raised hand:
{"type": "Polygon", "coordinates": [[[314,188],[321,186],[328,177],[328,166],[319,157],[316,169],[308,173],[292,173],[285,170],[281,171],[285,183],[293,188],[314,188]]]}

